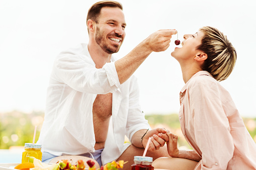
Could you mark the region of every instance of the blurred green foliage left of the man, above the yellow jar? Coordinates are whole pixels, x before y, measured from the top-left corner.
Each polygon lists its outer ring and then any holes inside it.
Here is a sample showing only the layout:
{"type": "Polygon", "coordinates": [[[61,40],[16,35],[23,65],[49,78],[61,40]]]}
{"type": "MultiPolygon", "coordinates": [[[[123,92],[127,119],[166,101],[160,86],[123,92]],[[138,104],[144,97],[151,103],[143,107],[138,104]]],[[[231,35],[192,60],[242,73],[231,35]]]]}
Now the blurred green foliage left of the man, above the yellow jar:
{"type": "Polygon", "coordinates": [[[38,140],[44,112],[30,114],[19,111],[0,113],[0,149],[10,146],[24,146],[33,142],[35,125],[37,125],[35,142],[38,140]]]}

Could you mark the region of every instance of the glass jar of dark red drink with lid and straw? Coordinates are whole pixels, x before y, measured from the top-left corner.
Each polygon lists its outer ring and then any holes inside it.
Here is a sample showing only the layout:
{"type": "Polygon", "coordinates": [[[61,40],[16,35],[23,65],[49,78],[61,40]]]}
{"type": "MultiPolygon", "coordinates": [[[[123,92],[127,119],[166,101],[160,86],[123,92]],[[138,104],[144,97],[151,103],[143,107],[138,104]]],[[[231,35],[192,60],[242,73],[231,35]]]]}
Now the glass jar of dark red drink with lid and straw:
{"type": "Polygon", "coordinates": [[[134,164],[132,164],[131,170],[154,170],[152,162],[153,157],[134,156],[134,164]]]}

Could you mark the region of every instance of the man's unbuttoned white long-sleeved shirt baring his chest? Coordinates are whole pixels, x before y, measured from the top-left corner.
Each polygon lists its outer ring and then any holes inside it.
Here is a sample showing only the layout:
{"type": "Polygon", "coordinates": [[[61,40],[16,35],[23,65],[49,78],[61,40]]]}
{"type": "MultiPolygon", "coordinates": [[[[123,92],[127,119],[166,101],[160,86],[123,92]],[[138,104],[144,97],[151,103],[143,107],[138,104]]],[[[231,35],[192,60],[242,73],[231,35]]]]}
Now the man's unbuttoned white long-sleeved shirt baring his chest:
{"type": "Polygon", "coordinates": [[[109,92],[112,116],[101,154],[103,164],[129,146],[124,144],[125,135],[131,140],[136,131],[150,128],[139,104],[137,79],[131,76],[120,85],[114,62],[96,69],[87,44],[61,52],[53,64],[37,141],[42,151],[54,155],[94,152],[93,102],[97,94],[109,92]]]}

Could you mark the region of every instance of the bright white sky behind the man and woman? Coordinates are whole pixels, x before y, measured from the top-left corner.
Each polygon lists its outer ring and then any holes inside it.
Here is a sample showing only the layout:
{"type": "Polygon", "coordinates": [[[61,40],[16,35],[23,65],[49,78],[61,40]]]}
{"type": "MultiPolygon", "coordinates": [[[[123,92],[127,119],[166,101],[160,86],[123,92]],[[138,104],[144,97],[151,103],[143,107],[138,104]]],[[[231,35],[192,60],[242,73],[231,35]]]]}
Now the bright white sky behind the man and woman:
{"type": "MultiPolygon", "coordinates": [[[[55,57],[88,42],[86,17],[97,1],[0,0],[0,112],[44,111],[55,57]]],[[[135,72],[145,114],[179,111],[184,86],[178,62],[171,57],[174,41],[201,27],[219,29],[237,51],[236,66],[221,83],[243,117],[256,117],[256,3],[248,1],[120,0],[127,27],[117,58],[150,34],[176,29],[170,47],[153,52],[135,72]]]]}

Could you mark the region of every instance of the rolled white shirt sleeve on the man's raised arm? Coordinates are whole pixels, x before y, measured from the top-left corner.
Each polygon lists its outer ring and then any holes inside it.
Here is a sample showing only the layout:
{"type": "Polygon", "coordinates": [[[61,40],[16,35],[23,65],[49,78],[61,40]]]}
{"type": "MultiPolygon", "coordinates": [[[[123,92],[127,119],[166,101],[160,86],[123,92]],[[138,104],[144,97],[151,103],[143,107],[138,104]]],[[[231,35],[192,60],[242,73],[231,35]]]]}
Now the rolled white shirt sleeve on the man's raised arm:
{"type": "Polygon", "coordinates": [[[86,93],[106,94],[120,88],[114,62],[95,68],[91,58],[66,51],[59,54],[53,65],[56,81],[86,93]]]}

